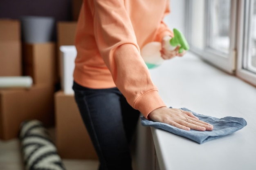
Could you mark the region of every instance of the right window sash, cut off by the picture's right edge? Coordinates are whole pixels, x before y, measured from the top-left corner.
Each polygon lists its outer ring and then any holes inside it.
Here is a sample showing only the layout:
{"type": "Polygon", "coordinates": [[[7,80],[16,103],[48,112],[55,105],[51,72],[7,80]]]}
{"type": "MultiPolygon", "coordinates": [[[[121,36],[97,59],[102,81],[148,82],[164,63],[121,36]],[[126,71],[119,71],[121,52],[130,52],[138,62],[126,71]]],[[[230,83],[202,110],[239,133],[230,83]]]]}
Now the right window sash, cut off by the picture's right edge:
{"type": "Polygon", "coordinates": [[[239,3],[237,75],[256,85],[256,0],[239,3]]]}

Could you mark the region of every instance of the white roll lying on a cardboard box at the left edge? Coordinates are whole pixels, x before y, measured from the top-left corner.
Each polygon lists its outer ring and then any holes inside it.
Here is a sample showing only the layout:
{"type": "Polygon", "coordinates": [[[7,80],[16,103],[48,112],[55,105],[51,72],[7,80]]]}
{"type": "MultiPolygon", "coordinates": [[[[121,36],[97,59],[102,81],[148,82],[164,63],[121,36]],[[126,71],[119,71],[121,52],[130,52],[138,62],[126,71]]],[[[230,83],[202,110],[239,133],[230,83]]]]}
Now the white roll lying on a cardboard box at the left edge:
{"type": "Polygon", "coordinates": [[[30,88],[33,79],[30,76],[1,76],[0,88],[25,87],[30,88]]]}

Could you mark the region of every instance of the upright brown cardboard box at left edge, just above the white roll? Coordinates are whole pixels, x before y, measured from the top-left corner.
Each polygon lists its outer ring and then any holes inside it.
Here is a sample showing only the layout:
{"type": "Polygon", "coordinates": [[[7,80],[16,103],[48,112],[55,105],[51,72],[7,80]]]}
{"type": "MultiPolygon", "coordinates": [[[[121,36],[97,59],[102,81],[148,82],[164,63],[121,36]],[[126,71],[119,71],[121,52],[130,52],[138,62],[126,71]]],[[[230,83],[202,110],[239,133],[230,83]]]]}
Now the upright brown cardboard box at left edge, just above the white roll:
{"type": "Polygon", "coordinates": [[[20,22],[0,20],[0,76],[22,75],[20,22]]]}

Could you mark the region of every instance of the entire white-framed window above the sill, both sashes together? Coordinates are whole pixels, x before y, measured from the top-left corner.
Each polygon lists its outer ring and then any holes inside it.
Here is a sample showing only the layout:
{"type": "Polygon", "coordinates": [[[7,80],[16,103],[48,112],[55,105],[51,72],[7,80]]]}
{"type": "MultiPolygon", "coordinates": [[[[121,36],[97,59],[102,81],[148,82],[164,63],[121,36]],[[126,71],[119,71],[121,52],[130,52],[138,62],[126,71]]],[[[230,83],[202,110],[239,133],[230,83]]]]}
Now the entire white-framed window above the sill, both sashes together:
{"type": "Polygon", "coordinates": [[[256,0],[187,0],[193,53],[256,86],[256,0]]]}

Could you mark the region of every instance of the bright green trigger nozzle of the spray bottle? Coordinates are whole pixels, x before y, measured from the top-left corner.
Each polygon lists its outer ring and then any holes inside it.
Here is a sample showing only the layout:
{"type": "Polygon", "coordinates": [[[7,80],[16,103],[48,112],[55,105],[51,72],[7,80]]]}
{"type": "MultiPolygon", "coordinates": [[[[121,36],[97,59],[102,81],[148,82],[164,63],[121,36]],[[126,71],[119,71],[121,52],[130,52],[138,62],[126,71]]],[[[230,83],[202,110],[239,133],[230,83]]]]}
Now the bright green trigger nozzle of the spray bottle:
{"type": "Polygon", "coordinates": [[[180,46],[179,53],[183,50],[189,50],[189,43],[186,41],[185,36],[177,29],[173,29],[174,37],[170,40],[171,46],[180,46]]]}

